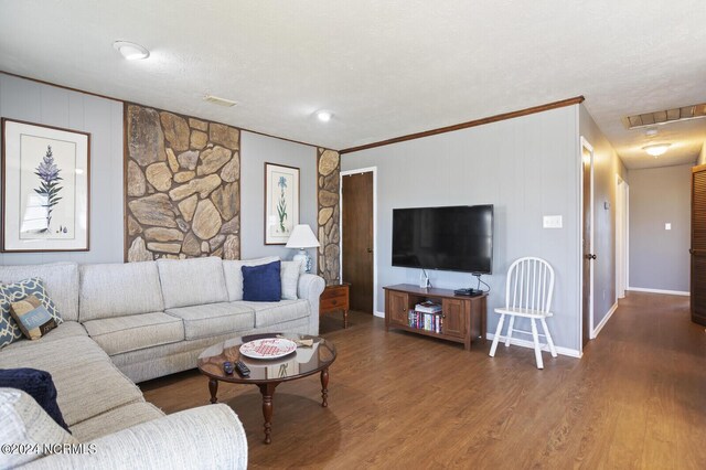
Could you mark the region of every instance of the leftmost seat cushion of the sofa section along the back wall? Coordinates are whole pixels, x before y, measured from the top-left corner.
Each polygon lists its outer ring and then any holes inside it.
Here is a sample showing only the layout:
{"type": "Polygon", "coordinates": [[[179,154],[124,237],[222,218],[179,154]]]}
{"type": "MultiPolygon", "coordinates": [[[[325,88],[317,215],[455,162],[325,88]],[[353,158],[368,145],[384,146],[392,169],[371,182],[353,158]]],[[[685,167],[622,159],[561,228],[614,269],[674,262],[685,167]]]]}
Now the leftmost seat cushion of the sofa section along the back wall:
{"type": "Polygon", "coordinates": [[[84,327],[108,355],[184,340],[182,321],[163,312],[90,320],[84,327]]]}

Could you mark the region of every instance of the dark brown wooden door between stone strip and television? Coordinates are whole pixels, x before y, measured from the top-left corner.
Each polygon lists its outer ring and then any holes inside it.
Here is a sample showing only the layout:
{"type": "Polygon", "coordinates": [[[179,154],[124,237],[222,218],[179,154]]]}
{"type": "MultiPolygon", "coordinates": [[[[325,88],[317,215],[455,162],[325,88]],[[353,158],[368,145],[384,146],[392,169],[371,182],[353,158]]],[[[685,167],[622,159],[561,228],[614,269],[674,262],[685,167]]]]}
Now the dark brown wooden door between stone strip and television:
{"type": "Polygon", "coordinates": [[[373,173],[343,177],[343,281],[351,310],[373,313],[373,173]]]}

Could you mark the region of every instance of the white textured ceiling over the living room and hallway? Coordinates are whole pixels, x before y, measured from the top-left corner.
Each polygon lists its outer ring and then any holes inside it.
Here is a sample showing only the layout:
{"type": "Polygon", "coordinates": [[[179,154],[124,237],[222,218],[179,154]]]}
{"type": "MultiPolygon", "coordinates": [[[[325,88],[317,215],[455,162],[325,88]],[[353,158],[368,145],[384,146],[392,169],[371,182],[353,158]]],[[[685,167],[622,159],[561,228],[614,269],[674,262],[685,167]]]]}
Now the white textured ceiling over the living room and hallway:
{"type": "Polygon", "coordinates": [[[706,102],[703,0],[0,0],[0,70],[334,149],[577,95],[629,168],[706,139],[706,119],[620,120],[706,102]]]}

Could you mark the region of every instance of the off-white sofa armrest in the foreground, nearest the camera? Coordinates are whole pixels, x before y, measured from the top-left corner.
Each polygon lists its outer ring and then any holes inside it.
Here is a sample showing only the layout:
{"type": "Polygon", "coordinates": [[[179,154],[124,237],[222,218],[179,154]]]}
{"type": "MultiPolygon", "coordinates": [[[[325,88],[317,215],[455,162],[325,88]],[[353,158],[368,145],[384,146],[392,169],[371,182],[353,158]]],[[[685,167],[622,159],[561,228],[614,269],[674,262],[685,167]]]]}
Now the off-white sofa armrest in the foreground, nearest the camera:
{"type": "Polygon", "coordinates": [[[206,405],[142,423],[54,453],[28,469],[246,469],[247,439],[226,405],[206,405]]]}

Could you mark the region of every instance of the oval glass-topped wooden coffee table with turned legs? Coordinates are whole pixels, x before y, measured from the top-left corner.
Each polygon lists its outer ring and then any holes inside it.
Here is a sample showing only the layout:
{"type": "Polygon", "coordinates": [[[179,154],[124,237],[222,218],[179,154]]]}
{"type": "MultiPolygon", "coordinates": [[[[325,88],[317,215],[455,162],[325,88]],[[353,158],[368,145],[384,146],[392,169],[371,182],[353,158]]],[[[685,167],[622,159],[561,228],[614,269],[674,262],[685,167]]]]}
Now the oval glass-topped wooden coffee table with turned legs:
{"type": "Polygon", "coordinates": [[[264,338],[275,338],[277,333],[253,334],[249,337],[234,338],[208,348],[199,356],[197,367],[202,374],[208,377],[208,391],[211,403],[216,403],[218,382],[232,384],[257,385],[263,394],[263,415],[265,417],[265,444],[271,440],[272,423],[272,396],[275,388],[282,382],[295,381],[315,373],[321,373],[321,406],[329,406],[329,366],[335,361],[335,346],[323,338],[306,334],[287,333],[279,335],[295,342],[312,340],[312,346],[298,346],[297,351],[284,357],[272,360],[257,360],[240,354],[240,345],[248,341],[264,338]],[[242,377],[238,372],[226,374],[223,371],[224,362],[243,361],[250,370],[248,377],[242,377]]]}

